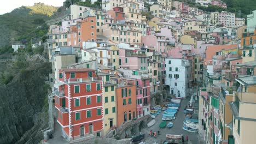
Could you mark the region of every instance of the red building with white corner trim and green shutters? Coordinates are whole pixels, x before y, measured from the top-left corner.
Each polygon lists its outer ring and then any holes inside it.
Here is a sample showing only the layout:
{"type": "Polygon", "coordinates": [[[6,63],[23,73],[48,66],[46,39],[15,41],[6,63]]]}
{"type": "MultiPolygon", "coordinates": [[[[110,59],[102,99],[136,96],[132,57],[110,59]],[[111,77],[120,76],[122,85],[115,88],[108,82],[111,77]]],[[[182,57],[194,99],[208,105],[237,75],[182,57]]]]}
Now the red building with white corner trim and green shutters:
{"type": "Polygon", "coordinates": [[[57,122],[67,140],[103,136],[102,77],[93,69],[63,69],[55,83],[57,122]]]}

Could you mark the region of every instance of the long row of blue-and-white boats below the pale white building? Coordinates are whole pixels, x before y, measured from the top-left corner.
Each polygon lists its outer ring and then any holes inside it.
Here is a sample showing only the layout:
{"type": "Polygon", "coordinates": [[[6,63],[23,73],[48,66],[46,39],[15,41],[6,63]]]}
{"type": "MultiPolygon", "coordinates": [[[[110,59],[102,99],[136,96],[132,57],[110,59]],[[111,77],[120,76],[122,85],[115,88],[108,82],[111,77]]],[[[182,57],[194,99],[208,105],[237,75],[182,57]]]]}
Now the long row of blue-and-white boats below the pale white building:
{"type": "Polygon", "coordinates": [[[167,104],[167,108],[165,112],[162,114],[162,120],[164,121],[174,120],[176,118],[180,104],[181,104],[181,99],[178,99],[178,98],[171,99],[171,103],[167,104]]]}

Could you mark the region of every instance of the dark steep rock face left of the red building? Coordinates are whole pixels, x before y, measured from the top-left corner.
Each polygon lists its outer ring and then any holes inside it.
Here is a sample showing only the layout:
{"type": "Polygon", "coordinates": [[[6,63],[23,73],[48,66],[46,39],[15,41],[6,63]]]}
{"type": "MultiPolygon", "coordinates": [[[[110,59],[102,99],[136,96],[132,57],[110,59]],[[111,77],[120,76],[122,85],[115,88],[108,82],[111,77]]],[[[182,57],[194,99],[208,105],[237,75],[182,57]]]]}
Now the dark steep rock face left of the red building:
{"type": "Polygon", "coordinates": [[[48,127],[44,86],[47,73],[48,70],[34,67],[17,74],[8,85],[0,85],[1,144],[32,144],[43,139],[41,130],[48,127]]]}

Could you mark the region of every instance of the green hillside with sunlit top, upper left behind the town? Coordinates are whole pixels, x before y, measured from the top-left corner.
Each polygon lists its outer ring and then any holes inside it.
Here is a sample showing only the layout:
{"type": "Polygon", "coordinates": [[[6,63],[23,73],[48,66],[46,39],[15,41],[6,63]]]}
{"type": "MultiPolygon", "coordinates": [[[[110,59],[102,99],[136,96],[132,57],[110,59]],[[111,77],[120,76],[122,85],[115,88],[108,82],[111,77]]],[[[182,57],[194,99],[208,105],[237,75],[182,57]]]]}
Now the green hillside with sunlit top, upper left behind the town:
{"type": "Polygon", "coordinates": [[[0,15],[0,46],[12,44],[14,41],[30,41],[32,33],[41,34],[44,21],[48,20],[57,10],[56,7],[35,3],[32,7],[20,7],[10,13],[0,15]],[[37,31],[37,32],[36,32],[37,31]]]}

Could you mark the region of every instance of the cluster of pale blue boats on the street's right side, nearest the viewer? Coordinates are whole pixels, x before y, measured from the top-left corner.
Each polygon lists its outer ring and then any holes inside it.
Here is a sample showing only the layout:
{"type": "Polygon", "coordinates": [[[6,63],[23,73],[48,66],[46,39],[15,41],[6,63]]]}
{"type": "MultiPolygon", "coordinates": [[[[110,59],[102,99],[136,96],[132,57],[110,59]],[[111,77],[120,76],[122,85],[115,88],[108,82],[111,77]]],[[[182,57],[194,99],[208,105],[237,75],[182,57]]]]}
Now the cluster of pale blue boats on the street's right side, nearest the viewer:
{"type": "Polygon", "coordinates": [[[191,133],[198,133],[198,119],[185,118],[183,129],[191,133]]]}

